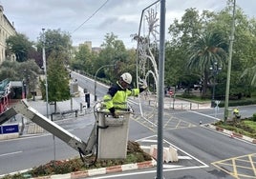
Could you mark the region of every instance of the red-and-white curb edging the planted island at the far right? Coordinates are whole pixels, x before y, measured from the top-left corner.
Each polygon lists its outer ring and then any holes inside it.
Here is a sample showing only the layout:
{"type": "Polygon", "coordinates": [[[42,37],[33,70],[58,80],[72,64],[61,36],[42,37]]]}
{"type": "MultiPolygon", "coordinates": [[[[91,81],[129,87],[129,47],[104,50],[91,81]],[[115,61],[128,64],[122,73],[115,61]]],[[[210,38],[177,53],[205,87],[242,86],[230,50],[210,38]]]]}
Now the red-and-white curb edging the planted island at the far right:
{"type": "Polygon", "coordinates": [[[250,142],[252,144],[256,144],[256,139],[253,139],[251,137],[247,137],[247,136],[242,135],[240,133],[236,133],[236,132],[233,132],[233,131],[230,131],[230,130],[227,130],[227,129],[222,129],[220,127],[216,127],[216,126],[211,125],[211,124],[206,124],[206,125],[203,125],[203,126],[205,128],[209,128],[209,129],[220,131],[220,132],[228,135],[231,138],[238,138],[238,139],[242,139],[242,140],[245,140],[247,142],[250,142]]]}

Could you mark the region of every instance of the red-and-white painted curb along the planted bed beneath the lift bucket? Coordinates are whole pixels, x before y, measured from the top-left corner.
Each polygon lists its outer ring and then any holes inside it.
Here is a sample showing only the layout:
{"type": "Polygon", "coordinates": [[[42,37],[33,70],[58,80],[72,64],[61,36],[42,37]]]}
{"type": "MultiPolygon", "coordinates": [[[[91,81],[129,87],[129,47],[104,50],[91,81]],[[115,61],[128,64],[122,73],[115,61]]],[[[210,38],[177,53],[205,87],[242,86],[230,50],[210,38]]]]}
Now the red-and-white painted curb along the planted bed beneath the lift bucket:
{"type": "Polygon", "coordinates": [[[67,174],[54,174],[49,176],[41,176],[41,177],[35,177],[32,179],[78,179],[81,177],[89,177],[89,176],[96,176],[96,175],[103,175],[103,174],[109,174],[114,172],[121,172],[121,171],[128,171],[128,170],[134,170],[134,169],[147,169],[147,168],[153,168],[157,166],[156,160],[146,161],[146,162],[140,162],[135,164],[125,164],[125,165],[119,165],[119,166],[113,166],[108,168],[100,168],[100,169],[88,169],[88,170],[82,170],[82,171],[75,171],[67,174]]]}

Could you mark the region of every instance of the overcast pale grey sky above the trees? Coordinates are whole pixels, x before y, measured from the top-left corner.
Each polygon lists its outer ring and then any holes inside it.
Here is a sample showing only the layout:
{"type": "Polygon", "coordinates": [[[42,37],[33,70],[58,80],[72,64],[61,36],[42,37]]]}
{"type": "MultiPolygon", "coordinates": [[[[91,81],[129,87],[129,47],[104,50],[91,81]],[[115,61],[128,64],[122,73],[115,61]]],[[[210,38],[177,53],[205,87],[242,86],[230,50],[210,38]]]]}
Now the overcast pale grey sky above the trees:
{"type": "MultiPolygon", "coordinates": [[[[138,33],[141,11],[155,1],[0,0],[0,4],[4,7],[4,14],[14,23],[15,29],[34,42],[42,28],[60,29],[71,33],[74,46],[92,41],[93,47],[99,47],[104,36],[114,32],[126,48],[136,48],[137,44],[131,40],[130,35],[138,33]],[[85,22],[86,20],[88,21],[85,22]]],[[[256,0],[236,2],[246,15],[256,17],[256,0]]],[[[225,5],[226,0],[166,0],[165,26],[168,28],[175,18],[180,19],[186,9],[219,11],[225,5]]]]}

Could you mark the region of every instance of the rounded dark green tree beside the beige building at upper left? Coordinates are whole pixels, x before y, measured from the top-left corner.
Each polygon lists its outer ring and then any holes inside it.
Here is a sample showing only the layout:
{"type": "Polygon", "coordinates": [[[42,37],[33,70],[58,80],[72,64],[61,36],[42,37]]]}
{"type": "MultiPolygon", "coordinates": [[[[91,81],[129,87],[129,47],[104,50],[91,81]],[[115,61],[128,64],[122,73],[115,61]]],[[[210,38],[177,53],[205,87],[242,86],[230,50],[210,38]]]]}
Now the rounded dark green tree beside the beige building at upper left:
{"type": "Polygon", "coordinates": [[[24,62],[28,60],[29,50],[32,48],[32,42],[29,38],[22,34],[17,33],[16,35],[10,36],[7,40],[7,49],[16,56],[17,62],[24,62]]]}

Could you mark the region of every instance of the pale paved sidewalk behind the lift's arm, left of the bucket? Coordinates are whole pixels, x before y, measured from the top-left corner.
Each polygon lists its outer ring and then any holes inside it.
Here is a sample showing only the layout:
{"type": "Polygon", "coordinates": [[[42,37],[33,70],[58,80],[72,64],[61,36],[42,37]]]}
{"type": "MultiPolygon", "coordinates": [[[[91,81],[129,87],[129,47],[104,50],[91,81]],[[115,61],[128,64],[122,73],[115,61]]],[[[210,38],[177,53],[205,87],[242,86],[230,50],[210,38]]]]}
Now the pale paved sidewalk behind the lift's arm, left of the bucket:
{"type": "MultiPolygon", "coordinates": [[[[90,94],[90,99],[94,99],[94,96],[90,94]]],[[[67,118],[75,118],[79,116],[83,116],[87,113],[93,111],[94,101],[90,101],[90,109],[87,109],[87,104],[85,103],[85,94],[83,89],[78,88],[78,92],[75,94],[71,100],[66,100],[62,102],[56,103],[56,112],[53,114],[54,105],[48,106],[49,111],[49,119],[53,121],[67,119],[67,118]],[[53,115],[51,115],[53,114],[53,115]]],[[[47,116],[47,105],[44,100],[42,100],[41,96],[36,96],[35,100],[32,99],[28,100],[29,105],[32,109],[36,109],[39,113],[44,116],[47,116]]],[[[26,136],[27,134],[36,134],[36,133],[43,133],[45,129],[42,129],[38,125],[32,123],[30,119],[23,117],[21,114],[17,114],[14,118],[10,119],[4,125],[19,125],[19,134],[22,136],[26,136]]],[[[8,139],[11,139],[11,136],[8,139]]]]}

